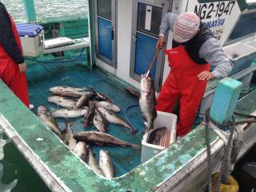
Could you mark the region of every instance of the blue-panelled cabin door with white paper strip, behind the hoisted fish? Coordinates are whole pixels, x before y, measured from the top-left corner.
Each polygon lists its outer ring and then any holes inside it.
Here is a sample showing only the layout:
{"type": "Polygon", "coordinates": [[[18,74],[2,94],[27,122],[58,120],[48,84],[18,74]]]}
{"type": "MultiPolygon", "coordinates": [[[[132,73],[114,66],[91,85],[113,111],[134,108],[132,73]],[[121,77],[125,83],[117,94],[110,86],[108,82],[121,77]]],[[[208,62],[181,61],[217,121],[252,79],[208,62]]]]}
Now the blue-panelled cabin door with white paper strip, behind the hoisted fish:
{"type": "MultiPolygon", "coordinates": [[[[146,73],[152,58],[154,58],[159,27],[162,17],[165,16],[169,8],[170,1],[134,0],[130,77],[137,81],[140,81],[141,74],[146,73]]],[[[151,71],[157,90],[162,85],[163,63],[164,54],[161,51],[154,69],[151,71]]]]}

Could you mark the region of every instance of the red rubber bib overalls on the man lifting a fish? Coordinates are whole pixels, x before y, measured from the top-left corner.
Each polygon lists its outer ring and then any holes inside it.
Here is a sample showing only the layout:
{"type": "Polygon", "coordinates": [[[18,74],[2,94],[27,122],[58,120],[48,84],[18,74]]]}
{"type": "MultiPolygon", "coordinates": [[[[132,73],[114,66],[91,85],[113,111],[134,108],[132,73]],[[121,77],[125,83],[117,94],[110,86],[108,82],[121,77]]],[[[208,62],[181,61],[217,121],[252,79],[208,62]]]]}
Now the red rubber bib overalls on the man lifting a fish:
{"type": "Polygon", "coordinates": [[[156,109],[172,113],[174,106],[180,101],[177,134],[182,137],[190,132],[206,90],[207,81],[199,80],[198,74],[209,71],[210,65],[198,65],[187,54],[184,46],[166,50],[166,54],[171,71],[162,86],[156,109]]]}

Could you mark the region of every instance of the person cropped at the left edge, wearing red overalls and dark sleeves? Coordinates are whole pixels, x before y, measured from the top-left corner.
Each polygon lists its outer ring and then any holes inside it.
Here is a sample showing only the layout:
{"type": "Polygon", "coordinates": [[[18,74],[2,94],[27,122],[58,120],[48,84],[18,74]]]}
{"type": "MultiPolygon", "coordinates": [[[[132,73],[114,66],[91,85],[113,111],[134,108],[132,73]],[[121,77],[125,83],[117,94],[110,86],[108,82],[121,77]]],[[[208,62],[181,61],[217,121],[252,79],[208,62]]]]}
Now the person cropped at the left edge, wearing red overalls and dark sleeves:
{"type": "Polygon", "coordinates": [[[0,79],[27,106],[30,106],[26,63],[22,56],[22,44],[13,18],[0,2],[0,79]]]}

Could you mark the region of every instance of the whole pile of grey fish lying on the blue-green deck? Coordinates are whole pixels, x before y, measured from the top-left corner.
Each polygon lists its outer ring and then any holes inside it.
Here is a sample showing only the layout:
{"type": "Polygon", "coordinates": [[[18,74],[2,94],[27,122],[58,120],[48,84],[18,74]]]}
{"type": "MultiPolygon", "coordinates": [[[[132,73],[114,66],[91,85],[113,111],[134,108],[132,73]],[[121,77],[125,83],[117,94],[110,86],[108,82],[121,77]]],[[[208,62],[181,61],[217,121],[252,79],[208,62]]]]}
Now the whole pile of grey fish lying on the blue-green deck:
{"type": "Polygon", "coordinates": [[[132,134],[135,133],[125,120],[115,114],[121,111],[120,107],[115,105],[106,95],[88,88],[56,86],[50,88],[50,92],[52,96],[48,98],[48,102],[64,108],[50,113],[45,106],[39,106],[38,117],[97,174],[106,178],[114,178],[114,166],[109,153],[106,150],[100,150],[98,165],[91,147],[87,144],[131,147],[134,150],[140,150],[137,145],[106,134],[108,130],[107,122],[118,124],[130,129],[132,134]],[[82,131],[73,134],[72,123],[66,123],[66,129],[62,131],[54,119],[78,118],[80,116],[84,116],[84,126],[86,128],[93,124],[98,131],[82,131]]]}

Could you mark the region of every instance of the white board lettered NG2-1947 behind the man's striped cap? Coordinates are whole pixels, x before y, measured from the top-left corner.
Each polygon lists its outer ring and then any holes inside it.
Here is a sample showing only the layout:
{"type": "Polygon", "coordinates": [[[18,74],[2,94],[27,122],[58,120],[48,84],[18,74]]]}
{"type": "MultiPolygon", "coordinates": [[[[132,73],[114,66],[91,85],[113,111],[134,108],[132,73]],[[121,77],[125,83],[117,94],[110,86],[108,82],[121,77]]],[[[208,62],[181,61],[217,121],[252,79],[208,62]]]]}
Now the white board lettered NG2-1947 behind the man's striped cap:
{"type": "Polygon", "coordinates": [[[238,2],[234,0],[206,3],[189,0],[186,11],[197,14],[205,26],[212,30],[221,45],[226,42],[241,14],[238,2]]]}

